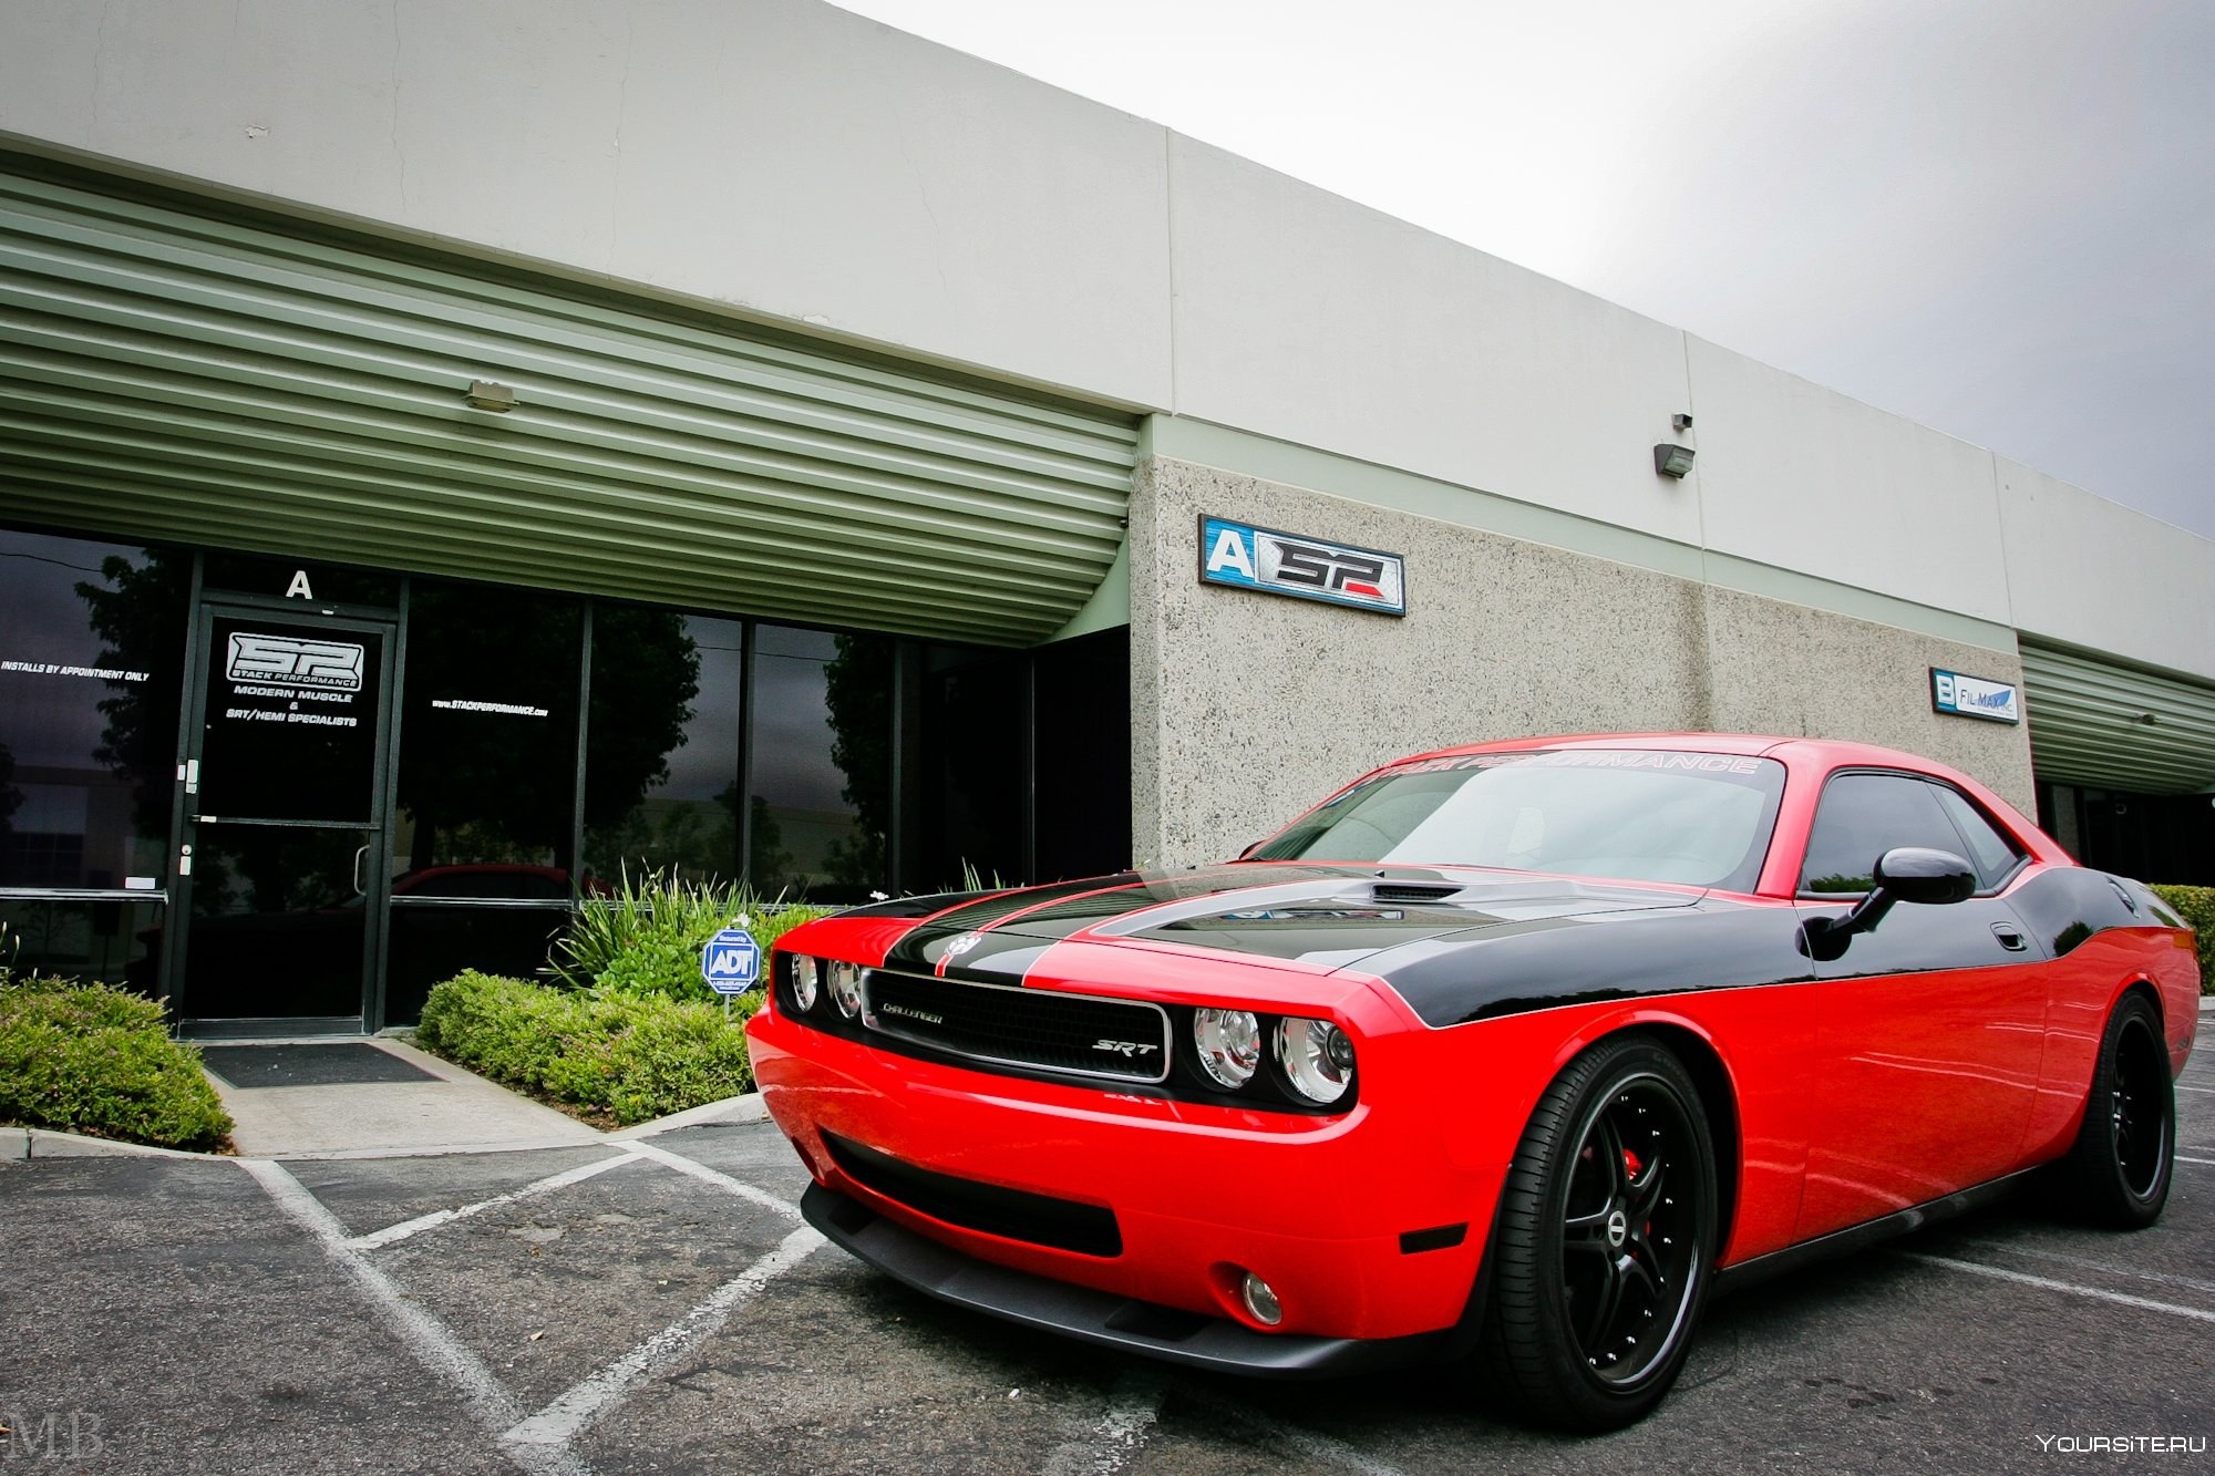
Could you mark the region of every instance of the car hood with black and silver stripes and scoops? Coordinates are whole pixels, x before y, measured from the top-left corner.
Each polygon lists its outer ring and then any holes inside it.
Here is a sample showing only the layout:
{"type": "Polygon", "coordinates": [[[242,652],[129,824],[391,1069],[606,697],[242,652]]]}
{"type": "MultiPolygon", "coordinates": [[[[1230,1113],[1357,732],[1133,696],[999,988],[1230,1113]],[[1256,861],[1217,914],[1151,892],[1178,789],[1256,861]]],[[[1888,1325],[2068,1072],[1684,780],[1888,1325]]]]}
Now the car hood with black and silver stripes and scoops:
{"type": "Polygon", "coordinates": [[[888,966],[1021,973],[1065,937],[1181,944],[1345,968],[1409,944],[1688,909],[1703,893],[1455,867],[1236,862],[995,893],[937,911],[888,966]]]}

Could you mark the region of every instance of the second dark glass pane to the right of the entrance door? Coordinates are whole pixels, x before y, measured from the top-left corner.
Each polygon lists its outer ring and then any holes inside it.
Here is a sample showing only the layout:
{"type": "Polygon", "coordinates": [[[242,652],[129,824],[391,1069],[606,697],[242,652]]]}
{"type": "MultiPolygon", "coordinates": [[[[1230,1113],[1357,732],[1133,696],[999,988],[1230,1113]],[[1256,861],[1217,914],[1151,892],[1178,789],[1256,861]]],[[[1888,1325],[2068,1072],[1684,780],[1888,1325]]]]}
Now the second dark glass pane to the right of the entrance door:
{"type": "Polygon", "coordinates": [[[735,880],[744,625],[594,605],[587,878],[735,880]]]}

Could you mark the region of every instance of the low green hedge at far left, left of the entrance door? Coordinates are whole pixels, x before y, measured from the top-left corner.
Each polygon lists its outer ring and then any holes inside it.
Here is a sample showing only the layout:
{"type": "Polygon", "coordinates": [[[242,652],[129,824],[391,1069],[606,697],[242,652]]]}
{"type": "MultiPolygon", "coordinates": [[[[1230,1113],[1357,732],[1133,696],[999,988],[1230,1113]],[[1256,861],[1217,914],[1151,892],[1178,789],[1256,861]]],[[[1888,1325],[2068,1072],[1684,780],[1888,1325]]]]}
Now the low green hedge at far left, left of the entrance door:
{"type": "Polygon", "coordinates": [[[106,984],[0,971],[0,1121],[217,1150],[230,1113],[162,1006],[106,984]]]}

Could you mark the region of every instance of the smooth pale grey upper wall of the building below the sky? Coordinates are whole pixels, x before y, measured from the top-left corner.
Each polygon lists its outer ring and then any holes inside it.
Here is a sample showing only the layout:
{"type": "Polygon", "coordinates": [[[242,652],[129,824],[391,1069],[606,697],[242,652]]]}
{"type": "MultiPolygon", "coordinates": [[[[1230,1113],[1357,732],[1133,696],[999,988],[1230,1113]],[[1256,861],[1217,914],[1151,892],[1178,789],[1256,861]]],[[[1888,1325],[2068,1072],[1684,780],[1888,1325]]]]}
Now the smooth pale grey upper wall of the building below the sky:
{"type": "Polygon", "coordinates": [[[27,0],[9,140],[2215,680],[2211,539],[817,0],[27,0]]]}

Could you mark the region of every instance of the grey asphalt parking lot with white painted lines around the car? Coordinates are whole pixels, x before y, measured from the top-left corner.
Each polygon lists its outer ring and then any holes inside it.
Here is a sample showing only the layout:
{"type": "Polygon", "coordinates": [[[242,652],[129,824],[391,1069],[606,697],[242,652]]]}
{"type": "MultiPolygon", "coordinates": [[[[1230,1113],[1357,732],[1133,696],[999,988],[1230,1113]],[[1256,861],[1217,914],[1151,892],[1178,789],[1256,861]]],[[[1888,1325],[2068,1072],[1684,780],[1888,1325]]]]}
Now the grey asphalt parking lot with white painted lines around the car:
{"type": "Polygon", "coordinates": [[[0,1166],[0,1469],[2215,1472],[2215,1053],[2166,1219],[2007,1203],[1717,1303],[1646,1423],[1464,1367],[1263,1385],[966,1314],[808,1230],[766,1121],[0,1166]]]}

